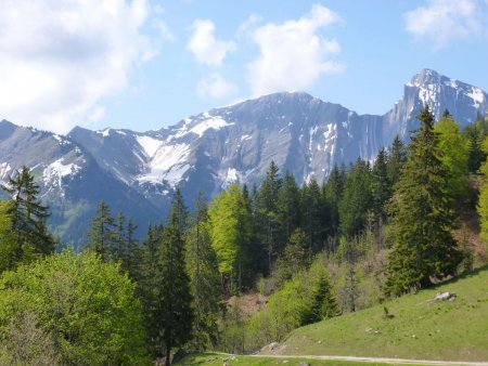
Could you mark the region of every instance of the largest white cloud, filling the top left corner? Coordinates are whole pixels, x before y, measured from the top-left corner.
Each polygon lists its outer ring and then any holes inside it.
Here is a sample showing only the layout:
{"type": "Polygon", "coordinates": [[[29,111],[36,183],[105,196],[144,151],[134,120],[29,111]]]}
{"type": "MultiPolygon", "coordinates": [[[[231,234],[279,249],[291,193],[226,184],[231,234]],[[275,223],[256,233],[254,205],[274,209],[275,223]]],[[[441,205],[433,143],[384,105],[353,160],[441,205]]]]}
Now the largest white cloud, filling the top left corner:
{"type": "Polygon", "coordinates": [[[0,1],[0,119],[67,132],[155,54],[144,0],[0,1]]]}

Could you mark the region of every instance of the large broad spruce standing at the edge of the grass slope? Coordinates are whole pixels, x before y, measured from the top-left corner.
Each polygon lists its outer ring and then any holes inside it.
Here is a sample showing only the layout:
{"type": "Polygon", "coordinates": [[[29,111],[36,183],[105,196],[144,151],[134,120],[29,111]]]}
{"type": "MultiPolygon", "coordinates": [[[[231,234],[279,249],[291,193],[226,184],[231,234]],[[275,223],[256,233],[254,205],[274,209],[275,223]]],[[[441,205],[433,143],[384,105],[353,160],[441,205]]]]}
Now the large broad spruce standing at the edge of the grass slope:
{"type": "Polygon", "coordinates": [[[428,106],[418,116],[408,160],[396,186],[394,247],[387,269],[386,295],[401,295],[455,273],[462,260],[451,235],[453,213],[439,139],[428,106]]]}

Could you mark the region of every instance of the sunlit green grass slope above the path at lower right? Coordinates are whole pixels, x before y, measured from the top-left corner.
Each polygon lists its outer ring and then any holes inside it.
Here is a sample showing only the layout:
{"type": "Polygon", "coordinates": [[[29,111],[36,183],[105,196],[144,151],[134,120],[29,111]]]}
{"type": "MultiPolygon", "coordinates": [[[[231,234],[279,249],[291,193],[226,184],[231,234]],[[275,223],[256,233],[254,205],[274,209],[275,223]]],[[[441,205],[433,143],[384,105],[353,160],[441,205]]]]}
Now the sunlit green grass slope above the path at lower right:
{"type": "Polygon", "coordinates": [[[278,354],[488,361],[488,266],[433,289],[294,330],[278,354]],[[438,291],[455,301],[433,301],[438,291]],[[384,306],[393,315],[385,318],[384,306]]]}

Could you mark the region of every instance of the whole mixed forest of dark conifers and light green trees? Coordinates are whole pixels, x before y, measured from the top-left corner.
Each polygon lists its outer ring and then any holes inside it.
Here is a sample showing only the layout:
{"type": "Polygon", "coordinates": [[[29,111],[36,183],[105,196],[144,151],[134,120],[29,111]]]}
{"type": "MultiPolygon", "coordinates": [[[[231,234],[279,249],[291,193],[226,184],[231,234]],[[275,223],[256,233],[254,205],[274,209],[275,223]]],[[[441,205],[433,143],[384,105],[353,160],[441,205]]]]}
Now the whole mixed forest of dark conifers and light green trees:
{"type": "Polygon", "coordinates": [[[488,119],[461,130],[428,106],[418,119],[408,144],[325,182],[299,185],[272,162],[261,184],[201,194],[192,208],[176,188],[145,238],[101,201],[79,251],[50,233],[24,167],[0,200],[0,364],[251,353],[485,264],[488,119]]]}

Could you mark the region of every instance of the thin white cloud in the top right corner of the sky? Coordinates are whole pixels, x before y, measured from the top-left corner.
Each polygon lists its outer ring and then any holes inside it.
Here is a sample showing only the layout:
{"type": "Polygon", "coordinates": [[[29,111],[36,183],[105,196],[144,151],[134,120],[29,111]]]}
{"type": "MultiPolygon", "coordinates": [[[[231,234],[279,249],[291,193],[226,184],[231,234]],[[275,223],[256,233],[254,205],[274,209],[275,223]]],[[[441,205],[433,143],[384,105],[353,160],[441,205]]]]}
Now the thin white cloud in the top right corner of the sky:
{"type": "Polygon", "coordinates": [[[426,6],[419,6],[404,14],[406,29],[416,40],[427,40],[434,49],[449,45],[449,42],[478,37],[483,32],[484,17],[480,11],[486,6],[479,0],[429,0],[426,6]]]}

